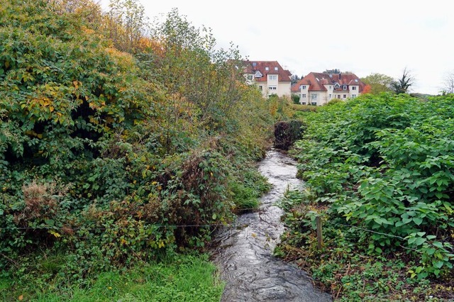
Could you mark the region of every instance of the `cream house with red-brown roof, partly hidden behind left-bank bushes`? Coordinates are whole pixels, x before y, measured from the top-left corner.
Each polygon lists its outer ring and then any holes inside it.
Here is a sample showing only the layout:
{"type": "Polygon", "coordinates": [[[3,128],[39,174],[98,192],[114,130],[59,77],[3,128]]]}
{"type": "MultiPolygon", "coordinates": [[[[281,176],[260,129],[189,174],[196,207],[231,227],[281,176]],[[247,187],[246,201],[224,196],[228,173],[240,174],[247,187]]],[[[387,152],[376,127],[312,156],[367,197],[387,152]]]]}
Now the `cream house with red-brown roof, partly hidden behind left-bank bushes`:
{"type": "Polygon", "coordinates": [[[263,96],[290,96],[292,73],[282,68],[277,61],[243,60],[242,63],[246,83],[257,85],[263,96]]]}

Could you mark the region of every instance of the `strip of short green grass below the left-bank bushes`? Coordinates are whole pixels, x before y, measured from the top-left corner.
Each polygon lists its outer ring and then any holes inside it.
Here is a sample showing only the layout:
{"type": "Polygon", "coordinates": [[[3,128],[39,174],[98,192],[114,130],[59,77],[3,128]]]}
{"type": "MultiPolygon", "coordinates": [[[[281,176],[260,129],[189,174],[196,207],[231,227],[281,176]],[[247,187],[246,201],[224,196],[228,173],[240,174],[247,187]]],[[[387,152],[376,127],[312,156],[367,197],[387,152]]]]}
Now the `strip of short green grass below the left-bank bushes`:
{"type": "Polygon", "coordinates": [[[82,284],[47,288],[0,279],[4,301],[220,301],[223,284],[207,255],[179,255],[159,263],[138,263],[126,272],[104,272],[82,284]]]}

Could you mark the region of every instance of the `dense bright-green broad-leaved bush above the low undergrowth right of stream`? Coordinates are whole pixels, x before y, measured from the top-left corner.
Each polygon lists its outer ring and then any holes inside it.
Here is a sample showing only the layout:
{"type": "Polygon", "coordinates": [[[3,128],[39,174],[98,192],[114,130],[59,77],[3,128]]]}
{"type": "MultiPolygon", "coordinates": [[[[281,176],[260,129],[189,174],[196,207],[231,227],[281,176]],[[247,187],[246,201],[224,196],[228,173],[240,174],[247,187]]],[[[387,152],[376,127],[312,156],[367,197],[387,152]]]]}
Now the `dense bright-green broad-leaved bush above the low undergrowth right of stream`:
{"type": "Polygon", "coordinates": [[[324,228],[350,225],[349,240],[368,255],[404,252],[416,262],[411,278],[451,274],[453,105],[452,95],[380,94],[299,113],[308,128],[292,155],[307,188],[284,203],[295,212],[287,222],[308,233],[294,240],[312,236],[312,209],[324,228]]]}

